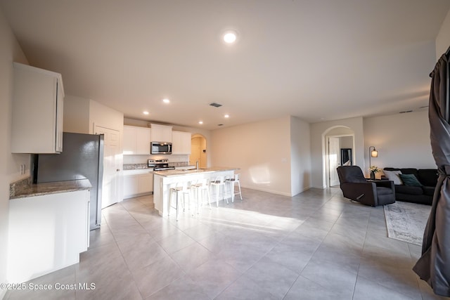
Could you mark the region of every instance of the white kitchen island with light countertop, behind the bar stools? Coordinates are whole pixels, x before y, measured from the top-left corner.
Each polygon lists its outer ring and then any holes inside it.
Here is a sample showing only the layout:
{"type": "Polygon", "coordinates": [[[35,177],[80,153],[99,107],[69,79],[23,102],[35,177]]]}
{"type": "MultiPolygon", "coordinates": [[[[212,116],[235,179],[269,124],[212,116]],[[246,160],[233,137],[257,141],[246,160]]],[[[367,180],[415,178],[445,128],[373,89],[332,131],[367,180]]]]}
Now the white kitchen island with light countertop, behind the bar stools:
{"type": "MultiPolygon", "coordinates": [[[[196,182],[203,178],[214,180],[218,176],[232,178],[234,171],[238,168],[233,167],[210,167],[207,169],[181,169],[167,171],[153,171],[153,202],[155,209],[161,216],[167,216],[169,210],[169,190],[176,183],[196,182]]],[[[212,191],[211,191],[212,192],[212,191]]],[[[234,193],[229,193],[226,188],[226,198],[233,198],[234,193]],[[231,195],[230,195],[231,194],[231,195]]],[[[211,202],[216,201],[216,197],[211,197],[211,202]]]]}

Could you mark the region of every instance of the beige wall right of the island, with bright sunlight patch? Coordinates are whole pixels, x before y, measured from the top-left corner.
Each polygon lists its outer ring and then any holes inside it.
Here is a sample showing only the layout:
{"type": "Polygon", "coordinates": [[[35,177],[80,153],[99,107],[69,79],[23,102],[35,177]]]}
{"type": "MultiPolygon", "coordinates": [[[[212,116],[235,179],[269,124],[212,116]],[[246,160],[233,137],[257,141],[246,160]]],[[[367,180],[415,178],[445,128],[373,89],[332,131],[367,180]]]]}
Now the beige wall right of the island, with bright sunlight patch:
{"type": "Polygon", "coordinates": [[[238,167],[241,185],[291,195],[290,117],[212,131],[213,166],[238,167]]]}

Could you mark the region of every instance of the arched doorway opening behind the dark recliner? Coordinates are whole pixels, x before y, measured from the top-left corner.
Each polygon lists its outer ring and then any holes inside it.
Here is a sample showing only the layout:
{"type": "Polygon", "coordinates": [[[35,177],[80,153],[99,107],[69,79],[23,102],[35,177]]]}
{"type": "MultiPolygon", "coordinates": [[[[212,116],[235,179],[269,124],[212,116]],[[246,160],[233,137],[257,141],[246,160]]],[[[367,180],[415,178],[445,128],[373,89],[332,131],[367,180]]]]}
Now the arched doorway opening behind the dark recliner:
{"type": "Polygon", "coordinates": [[[326,188],[339,184],[337,167],[354,164],[354,140],[354,130],[347,126],[332,126],[322,133],[323,182],[326,188]]]}

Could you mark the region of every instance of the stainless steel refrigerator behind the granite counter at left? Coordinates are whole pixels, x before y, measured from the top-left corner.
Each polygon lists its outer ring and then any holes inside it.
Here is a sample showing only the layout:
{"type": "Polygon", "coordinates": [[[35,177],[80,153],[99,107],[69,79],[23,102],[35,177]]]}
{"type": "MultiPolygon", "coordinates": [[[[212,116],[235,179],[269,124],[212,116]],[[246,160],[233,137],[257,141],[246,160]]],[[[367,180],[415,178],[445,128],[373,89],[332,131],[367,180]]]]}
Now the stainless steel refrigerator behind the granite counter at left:
{"type": "Polygon", "coordinates": [[[90,229],[101,223],[103,134],[63,133],[63,152],[32,157],[34,183],[87,178],[91,182],[90,229]]]}

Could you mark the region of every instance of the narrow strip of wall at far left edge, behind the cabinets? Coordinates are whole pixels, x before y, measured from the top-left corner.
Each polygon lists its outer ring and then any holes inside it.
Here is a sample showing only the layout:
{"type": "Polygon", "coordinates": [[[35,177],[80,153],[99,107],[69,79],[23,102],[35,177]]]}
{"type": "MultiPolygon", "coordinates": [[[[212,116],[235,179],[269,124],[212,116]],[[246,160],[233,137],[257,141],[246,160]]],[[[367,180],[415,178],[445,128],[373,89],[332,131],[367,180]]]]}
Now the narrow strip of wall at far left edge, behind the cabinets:
{"type": "MultiPolygon", "coordinates": [[[[20,164],[29,171],[30,155],[11,154],[13,61],[28,64],[0,8],[0,282],[7,282],[9,183],[20,176],[20,164]]],[[[28,176],[28,174],[27,174],[28,176]]],[[[0,299],[6,289],[0,289],[0,299]]]]}

